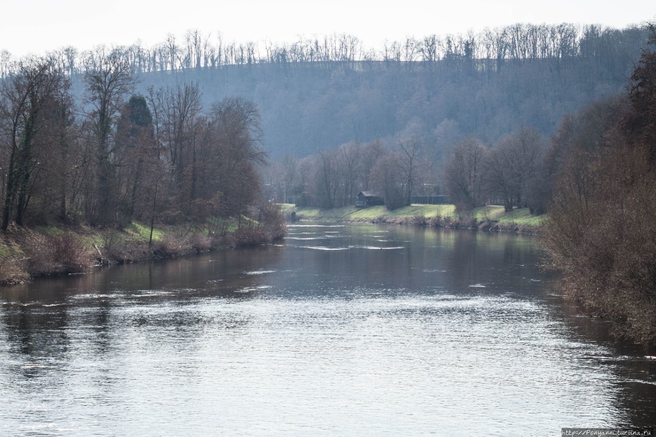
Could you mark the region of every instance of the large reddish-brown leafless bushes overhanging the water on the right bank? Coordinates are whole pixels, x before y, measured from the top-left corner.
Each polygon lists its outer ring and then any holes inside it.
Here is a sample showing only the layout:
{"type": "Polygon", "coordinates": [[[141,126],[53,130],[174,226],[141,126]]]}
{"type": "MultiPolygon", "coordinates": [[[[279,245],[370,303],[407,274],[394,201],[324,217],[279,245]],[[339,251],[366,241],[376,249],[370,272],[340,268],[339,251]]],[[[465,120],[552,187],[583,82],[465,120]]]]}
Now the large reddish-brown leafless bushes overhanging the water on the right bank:
{"type": "Polygon", "coordinates": [[[567,294],[638,343],[656,342],[656,171],[646,148],[614,146],[581,174],[571,163],[544,226],[567,294]]]}

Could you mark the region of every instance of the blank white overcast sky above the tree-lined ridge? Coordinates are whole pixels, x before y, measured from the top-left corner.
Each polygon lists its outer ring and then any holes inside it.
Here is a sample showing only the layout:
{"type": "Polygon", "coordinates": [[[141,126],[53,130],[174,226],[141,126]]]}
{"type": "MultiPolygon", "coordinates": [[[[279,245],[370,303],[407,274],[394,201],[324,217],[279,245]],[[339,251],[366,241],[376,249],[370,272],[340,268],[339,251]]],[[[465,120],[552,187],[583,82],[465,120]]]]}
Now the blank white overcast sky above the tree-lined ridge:
{"type": "Polygon", "coordinates": [[[7,0],[0,50],[16,56],[64,45],[146,45],[198,29],[236,41],[294,41],[347,32],[365,46],[388,39],[482,30],[516,22],[626,24],[653,20],[654,0],[7,0]]]}

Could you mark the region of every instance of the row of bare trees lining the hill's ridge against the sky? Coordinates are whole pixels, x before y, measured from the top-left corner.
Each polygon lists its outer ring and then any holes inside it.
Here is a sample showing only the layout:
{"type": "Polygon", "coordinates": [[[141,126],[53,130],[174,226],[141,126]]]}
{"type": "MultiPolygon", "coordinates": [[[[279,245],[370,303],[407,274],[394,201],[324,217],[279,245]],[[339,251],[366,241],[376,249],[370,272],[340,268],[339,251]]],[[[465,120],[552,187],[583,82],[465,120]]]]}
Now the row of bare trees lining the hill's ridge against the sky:
{"type": "MultiPolygon", "coordinates": [[[[469,31],[466,35],[407,37],[405,41],[367,48],[358,37],[345,33],[300,38],[295,43],[279,45],[272,41],[236,43],[225,41],[221,33],[212,35],[190,30],[182,38],[169,34],[165,41],[153,47],[136,43],[117,50],[134,73],[252,64],[320,63],[327,66],[335,62],[431,63],[441,60],[485,60],[483,64],[487,69],[499,71],[505,61],[590,57],[621,51],[609,45],[635,42],[632,39],[644,34],[644,29],[638,27],[616,30],[594,24],[583,27],[565,23],[557,26],[514,24],[480,33],[469,31]]],[[[11,54],[1,53],[0,72],[6,74],[12,70],[11,54]]],[[[75,47],[64,47],[49,54],[58,68],[68,74],[86,70],[85,60],[94,56],[93,51],[79,52],[75,47]]]]}

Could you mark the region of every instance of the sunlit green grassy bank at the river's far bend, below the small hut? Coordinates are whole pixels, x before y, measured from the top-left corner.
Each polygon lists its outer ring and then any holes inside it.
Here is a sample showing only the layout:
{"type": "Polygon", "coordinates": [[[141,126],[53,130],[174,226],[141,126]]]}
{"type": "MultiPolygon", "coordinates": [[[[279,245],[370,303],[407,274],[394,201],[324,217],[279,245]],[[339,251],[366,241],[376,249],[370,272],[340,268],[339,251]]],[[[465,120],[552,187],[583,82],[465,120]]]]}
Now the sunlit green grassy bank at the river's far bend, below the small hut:
{"type": "Polygon", "coordinates": [[[365,222],[389,224],[413,224],[444,228],[479,228],[498,232],[523,232],[536,234],[544,222],[544,215],[534,216],[527,208],[506,213],[502,206],[488,205],[459,213],[454,205],[410,205],[389,211],[384,206],[356,208],[354,206],[320,209],[281,205],[286,217],[293,213],[300,220],[326,220],[340,222],[365,222]]]}

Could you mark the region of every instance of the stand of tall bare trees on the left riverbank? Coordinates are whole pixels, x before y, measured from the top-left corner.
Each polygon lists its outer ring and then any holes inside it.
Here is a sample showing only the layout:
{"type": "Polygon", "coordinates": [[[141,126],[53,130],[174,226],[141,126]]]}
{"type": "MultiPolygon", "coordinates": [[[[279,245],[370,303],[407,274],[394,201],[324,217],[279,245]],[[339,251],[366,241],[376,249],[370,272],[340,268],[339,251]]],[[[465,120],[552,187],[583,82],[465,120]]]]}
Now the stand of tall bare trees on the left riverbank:
{"type": "MultiPolygon", "coordinates": [[[[243,98],[203,107],[197,85],[134,94],[119,51],[85,60],[83,99],[51,58],[26,58],[0,86],[1,228],[202,224],[262,217],[260,115],[243,98]],[[258,206],[259,205],[259,206],[258,206]]],[[[268,217],[268,216],[267,216],[268,217]]]]}

